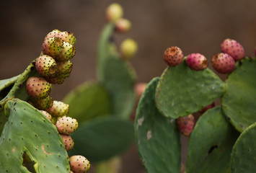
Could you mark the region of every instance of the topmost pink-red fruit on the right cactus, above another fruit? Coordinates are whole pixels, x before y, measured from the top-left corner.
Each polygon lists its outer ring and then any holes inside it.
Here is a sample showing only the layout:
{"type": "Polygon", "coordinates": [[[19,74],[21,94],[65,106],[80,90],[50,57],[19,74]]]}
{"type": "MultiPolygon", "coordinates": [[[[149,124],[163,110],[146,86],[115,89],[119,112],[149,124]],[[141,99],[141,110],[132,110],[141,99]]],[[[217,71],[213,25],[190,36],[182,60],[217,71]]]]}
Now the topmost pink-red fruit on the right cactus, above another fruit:
{"type": "Polygon", "coordinates": [[[239,61],[244,58],[244,48],[236,40],[227,38],[221,43],[221,51],[229,54],[234,61],[239,61]]]}

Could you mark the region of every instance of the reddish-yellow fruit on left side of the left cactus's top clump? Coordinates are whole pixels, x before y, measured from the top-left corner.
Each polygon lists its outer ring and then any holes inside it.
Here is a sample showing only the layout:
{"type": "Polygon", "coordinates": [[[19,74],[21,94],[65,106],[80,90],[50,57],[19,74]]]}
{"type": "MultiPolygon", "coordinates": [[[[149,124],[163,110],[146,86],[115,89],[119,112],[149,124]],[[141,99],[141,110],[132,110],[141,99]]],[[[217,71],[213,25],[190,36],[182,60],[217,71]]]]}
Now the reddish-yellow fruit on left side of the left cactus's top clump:
{"type": "Polygon", "coordinates": [[[63,50],[63,45],[63,40],[61,40],[61,38],[49,37],[48,39],[43,41],[42,51],[44,54],[51,56],[57,60],[57,57],[63,50]]]}

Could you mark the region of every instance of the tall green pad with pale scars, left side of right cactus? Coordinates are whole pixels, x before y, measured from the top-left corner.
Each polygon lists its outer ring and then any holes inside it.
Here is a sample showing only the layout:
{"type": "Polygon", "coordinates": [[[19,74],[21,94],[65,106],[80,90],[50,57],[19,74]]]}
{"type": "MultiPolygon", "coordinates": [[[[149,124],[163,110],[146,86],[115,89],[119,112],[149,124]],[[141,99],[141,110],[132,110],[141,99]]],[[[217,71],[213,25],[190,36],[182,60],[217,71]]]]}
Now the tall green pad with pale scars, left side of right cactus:
{"type": "Polygon", "coordinates": [[[180,172],[180,133],[175,120],[164,117],[155,104],[159,78],[152,79],[138,103],[134,124],[136,145],[148,173],[180,172]]]}

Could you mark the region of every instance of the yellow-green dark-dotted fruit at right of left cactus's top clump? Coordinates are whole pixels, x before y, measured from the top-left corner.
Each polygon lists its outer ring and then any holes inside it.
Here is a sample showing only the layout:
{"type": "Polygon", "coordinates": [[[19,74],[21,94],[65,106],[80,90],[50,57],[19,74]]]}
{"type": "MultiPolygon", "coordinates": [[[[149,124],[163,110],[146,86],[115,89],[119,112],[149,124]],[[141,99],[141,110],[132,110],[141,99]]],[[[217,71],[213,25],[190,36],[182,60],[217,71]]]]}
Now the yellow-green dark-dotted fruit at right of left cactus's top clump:
{"type": "Polygon", "coordinates": [[[63,49],[61,50],[61,53],[59,53],[58,56],[55,57],[55,59],[56,61],[69,61],[75,56],[75,54],[76,48],[74,47],[74,45],[63,42],[63,49]]]}

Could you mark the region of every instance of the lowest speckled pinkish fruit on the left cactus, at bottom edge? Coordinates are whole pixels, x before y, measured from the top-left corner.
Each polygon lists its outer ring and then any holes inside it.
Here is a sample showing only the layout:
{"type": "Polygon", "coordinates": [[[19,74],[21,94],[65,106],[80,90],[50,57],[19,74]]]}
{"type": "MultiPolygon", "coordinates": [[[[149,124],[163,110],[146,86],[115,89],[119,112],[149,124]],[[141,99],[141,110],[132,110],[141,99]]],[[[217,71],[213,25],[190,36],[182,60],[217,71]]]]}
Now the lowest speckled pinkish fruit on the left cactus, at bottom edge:
{"type": "Polygon", "coordinates": [[[69,159],[69,164],[71,167],[71,170],[74,171],[74,173],[84,173],[88,172],[91,164],[84,156],[71,156],[69,159]]]}

